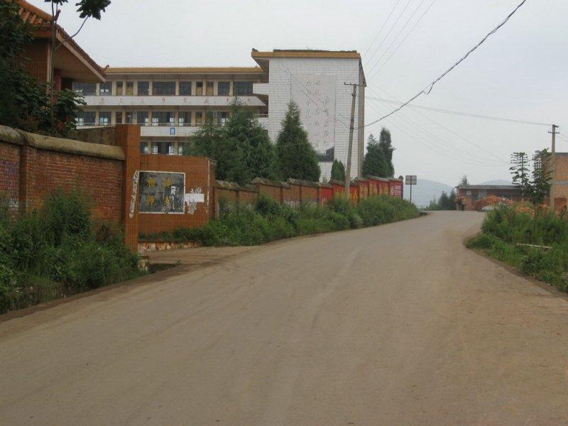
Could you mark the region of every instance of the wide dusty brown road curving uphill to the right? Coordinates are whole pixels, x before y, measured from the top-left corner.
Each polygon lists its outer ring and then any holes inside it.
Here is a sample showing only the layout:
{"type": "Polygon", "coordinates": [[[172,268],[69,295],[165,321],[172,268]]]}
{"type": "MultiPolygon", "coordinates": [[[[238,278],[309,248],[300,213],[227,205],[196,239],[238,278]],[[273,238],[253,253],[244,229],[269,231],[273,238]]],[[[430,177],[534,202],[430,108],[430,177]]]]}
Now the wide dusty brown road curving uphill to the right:
{"type": "MultiPolygon", "coordinates": [[[[2,425],[566,425],[568,300],[440,212],[0,323],[2,425]]],[[[184,269],[185,268],[185,269],[184,269]]]]}

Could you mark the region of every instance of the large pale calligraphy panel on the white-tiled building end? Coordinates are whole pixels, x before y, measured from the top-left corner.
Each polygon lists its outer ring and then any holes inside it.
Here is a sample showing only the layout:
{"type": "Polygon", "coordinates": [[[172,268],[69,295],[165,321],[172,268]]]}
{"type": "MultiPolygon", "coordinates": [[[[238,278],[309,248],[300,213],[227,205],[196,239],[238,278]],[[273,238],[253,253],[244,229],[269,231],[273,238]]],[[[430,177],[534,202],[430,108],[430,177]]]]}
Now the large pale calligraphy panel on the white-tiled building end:
{"type": "Polygon", "coordinates": [[[310,143],[323,162],[334,159],[335,84],[335,75],[295,74],[290,88],[310,143]]]}

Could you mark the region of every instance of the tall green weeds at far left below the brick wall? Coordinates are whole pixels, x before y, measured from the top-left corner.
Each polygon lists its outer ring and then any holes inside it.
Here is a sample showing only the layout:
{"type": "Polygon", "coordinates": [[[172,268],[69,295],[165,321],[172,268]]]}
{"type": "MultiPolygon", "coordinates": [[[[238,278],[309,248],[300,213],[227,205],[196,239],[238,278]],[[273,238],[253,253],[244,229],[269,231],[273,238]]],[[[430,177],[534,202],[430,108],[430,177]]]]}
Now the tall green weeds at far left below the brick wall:
{"type": "Polygon", "coordinates": [[[94,219],[80,191],[58,190],[21,217],[1,211],[0,312],[138,275],[120,227],[94,219]]]}

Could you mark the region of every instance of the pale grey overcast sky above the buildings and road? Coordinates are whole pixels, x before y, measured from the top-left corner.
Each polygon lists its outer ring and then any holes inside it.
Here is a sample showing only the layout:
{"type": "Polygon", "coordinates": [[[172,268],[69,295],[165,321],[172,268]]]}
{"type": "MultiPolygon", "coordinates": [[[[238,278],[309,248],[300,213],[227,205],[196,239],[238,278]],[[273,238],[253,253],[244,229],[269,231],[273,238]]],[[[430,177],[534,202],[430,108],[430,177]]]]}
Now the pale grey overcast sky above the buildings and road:
{"type": "MultiPolygon", "coordinates": [[[[62,7],[60,24],[68,33],[80,26],[75,2],[62,7]]],[[[31,3],[48,10],[42,0],[31,3]]],[[[99,65],[114,67],[251,66],[256,65],[251,48],[358,50],[367,52],[368,97],[405,101],[461,58],[520,0],[275,3],[113,0],[101,21],[87,21],[76,40],[99,65]]],[[[415,104],[555,123],[568,135],[567,17],[566,0],[528,0],[415,104]]],[[[395,107],[367,98],[366,122],[395,107]]],[[[461,175],[471,183],[509,180],[510,153],[550,147],[545,126],[408,107],[368,126],[366,134],[378,134],[381,126],[392,134],[396,175],[415,174],[449,185],[461,175]]],[[[557,139],[557,151],[568,151],[568,142],[557,139]]]]}

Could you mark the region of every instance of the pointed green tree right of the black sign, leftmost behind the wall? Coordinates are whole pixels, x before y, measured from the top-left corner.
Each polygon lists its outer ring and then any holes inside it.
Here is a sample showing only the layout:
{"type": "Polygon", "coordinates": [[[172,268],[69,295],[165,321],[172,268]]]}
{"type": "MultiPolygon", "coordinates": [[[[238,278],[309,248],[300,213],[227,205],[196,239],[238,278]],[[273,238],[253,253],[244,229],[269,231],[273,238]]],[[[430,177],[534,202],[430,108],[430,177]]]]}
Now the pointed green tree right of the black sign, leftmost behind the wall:
{"type": "Polygon", "coordinates": [[[185,155],[205,155],[217,165],[215,177],[219,180],[249,182],[251,176],[246,170],[244,153],[235,138],[227,135],[223,126],[218,126],[215,116],[209,111],[200,130],[193,137],[193,146],[185,155]]]}

